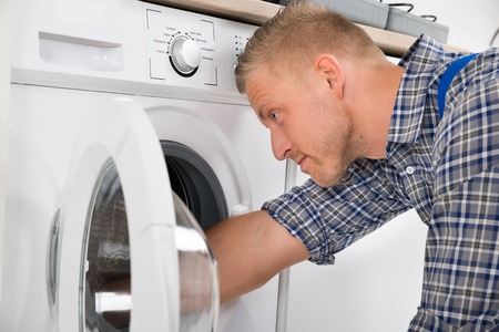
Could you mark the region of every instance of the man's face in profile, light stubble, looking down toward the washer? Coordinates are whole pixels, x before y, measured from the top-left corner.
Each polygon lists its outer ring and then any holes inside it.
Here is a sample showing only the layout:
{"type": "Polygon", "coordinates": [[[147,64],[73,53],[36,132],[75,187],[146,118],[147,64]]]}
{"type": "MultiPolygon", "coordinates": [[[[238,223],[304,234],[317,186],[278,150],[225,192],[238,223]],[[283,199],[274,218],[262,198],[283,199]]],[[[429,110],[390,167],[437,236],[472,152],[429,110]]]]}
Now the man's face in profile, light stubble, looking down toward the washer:
{"type": "Polygon", "coordinates": [[[262,66],[248,77],[246,95],[271,129],[275,157],[292,158],[318,185],[338,183],[357,158],[348,107],[319,71],[277,76],[262,66]]]}

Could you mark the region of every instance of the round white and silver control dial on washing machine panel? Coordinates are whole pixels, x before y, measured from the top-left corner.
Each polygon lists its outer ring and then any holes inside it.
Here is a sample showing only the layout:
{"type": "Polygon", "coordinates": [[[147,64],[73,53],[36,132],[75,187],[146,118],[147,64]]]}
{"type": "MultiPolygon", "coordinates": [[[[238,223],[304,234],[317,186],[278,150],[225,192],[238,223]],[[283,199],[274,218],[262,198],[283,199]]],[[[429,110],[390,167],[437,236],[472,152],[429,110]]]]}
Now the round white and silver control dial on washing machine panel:
{"type": "Polygon", "coordinates": [[[170,62],[177,74],[192,76],[201,63],[201,46],[194,40],[179,35],[171,43],[170,62]]]}

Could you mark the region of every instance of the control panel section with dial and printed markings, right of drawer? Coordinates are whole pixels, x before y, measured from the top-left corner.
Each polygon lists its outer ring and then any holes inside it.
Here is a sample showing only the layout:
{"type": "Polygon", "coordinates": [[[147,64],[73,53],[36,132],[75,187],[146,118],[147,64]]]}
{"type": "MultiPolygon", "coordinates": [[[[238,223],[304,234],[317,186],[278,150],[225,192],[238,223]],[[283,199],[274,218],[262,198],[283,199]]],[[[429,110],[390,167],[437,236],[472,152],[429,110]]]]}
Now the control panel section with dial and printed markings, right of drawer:
{"type": "Polygon", "coordinates": [[[240,95],[234,68],[257,27],[151,3],[144,19],[147,83],[240,95]]]}

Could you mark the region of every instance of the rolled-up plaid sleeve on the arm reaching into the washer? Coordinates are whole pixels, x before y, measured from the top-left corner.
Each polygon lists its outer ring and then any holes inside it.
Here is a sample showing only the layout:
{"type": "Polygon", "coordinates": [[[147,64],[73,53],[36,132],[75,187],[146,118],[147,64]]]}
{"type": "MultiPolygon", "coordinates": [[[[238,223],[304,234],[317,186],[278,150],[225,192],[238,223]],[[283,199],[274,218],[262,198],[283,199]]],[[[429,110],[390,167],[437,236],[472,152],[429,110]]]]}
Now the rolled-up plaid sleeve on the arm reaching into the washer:
{"type": "Polygon", "coordinates": [[[312,262],[330,264],[336,252],[410,208],[384,174],[383,160],[358,159],[338,185],[309,179],[263,209],[305,245],[312,262]]]}

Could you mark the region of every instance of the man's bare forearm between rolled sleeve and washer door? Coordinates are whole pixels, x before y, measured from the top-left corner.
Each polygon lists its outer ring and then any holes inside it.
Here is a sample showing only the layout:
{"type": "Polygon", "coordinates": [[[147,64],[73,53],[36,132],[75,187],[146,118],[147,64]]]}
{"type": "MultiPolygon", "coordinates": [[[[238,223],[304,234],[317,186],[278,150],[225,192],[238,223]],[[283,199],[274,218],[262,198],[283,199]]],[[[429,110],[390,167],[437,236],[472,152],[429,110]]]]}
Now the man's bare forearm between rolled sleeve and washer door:
{"type": "Polygon", "coordinates": [[[206,236],[218,262],[222,303],[309,257],[305,246],[263,210],[222,221],[206,236]]]}

